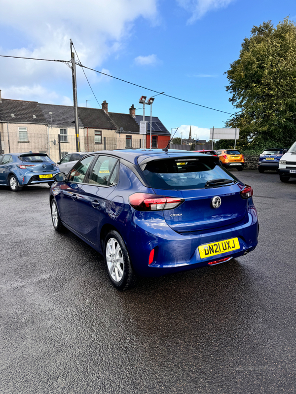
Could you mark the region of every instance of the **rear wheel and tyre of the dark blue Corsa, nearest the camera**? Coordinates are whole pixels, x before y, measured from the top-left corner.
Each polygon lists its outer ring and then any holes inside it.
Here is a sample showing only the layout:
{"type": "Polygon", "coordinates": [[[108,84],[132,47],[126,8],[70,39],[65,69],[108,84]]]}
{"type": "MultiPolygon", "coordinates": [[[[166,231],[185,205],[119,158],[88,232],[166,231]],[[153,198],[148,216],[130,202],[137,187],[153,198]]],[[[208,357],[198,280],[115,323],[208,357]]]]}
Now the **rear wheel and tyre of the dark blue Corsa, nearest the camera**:
{"type": "Polygon", "coordinates": [[[115,230],[111,230],[105,238],[104,261],[115,289],[123,291],[135,286],[137,278],[128,251],[122,237],[115,230]]]}

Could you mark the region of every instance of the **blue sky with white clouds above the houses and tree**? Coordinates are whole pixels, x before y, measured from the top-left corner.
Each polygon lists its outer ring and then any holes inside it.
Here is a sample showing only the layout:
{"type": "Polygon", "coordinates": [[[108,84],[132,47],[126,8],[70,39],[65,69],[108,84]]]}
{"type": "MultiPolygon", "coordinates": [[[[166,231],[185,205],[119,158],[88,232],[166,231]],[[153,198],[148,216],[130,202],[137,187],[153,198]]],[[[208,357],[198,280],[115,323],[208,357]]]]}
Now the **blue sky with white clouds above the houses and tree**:
{"type": "MultiPolygon", "coordinates": [[[[72,38],[83,65],[155,91],[233,112],[223,73],[239,56],[253,25],[286,16],[295,0],[0,0],[0,54],[70,60],[72,38]]],[[[0,58],[2,98],[72,105],[71,70],[64,64],[0,58]]],[[[128,113],[153,93],[85,70],[101,104],[128,113]]],[[[80,67],[78,104],[99,108],[80,67]]],[[[148,112],[149,112],[149,108],[148,112]]],[[[137,110],[142,114],[142,109],[137,110]]],[[[168,130],[190,125],[197,138],[230,115],[157,96],[152,115],[168,130]]],[[[176,135],[180,135],[179,131],[176,135]]]]}

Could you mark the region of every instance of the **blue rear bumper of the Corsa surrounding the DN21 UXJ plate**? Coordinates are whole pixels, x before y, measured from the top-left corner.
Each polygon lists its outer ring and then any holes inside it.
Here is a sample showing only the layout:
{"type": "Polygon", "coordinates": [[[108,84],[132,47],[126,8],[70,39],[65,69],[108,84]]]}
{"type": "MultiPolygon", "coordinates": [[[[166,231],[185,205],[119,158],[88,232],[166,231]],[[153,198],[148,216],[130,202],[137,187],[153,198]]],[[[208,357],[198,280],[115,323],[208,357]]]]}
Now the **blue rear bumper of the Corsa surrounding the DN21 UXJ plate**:
{"type": "MultiPolygon", "coordinates": [[[[155,215],[155,214],[154,214],[155,215]]],[[[135,271],[141,276],[161,276],[208,265],[209,262],[227,257],[239,257],[254,250],[258,243],[259,224],[257,211],[250,201],[246,220],[228,229],[211,232],[197,231],[191,235],[175,232],[159,214],[149,223],[141,215],[134,215],[127,248],[135,271]],[[242,224],[242,222],[244,224],[242,224]],[[201,258],[198,246],[237,237],[240,249],[201,258]],[[136,247],[135,247],[136,245],[136,247]],[[154,249],[153,263],[148,265],[149,254],[154,249]],[[141,251],[139,253],[138,251],[141,251]]]]}

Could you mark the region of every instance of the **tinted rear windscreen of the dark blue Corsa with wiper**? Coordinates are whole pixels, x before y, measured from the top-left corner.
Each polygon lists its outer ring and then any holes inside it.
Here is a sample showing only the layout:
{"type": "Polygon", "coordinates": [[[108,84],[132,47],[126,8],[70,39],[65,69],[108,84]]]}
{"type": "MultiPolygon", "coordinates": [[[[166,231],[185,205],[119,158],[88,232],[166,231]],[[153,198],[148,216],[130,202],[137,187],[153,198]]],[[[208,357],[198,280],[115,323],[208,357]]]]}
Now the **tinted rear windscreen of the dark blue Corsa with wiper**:
{"type": "Polygon", "coordinates": [[[213,179],[237,180],[214,161],[200,159],[154,160],[143,173],[152,188],[164,190],[203,189],[213,179]]]}

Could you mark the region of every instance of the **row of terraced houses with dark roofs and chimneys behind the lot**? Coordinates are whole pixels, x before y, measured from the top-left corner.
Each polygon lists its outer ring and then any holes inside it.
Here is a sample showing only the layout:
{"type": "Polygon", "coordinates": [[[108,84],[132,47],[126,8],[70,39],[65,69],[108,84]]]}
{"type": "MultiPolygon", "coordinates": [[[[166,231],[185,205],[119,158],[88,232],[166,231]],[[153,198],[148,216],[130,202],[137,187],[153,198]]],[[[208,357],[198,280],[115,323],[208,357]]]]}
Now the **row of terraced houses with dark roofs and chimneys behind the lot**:
{"type": "MultiPolygon", "coordinates": [[[[143,147],[139,124],[143,116],[136,115],[132,105],[129,113],[108,111],[108,103],[102,109],[78,107],[80,151],[94,152],[104,149],[143,147]]],[[[150,117],[148,134],[144,144],[150,147],[150,117]]],[[[164,148],[170,133],[157,117],[152,117],[152,148],[164,148]]],[[[61,156],[76,152],[74,107],[43,104],[37,101],[1,99],[0,91],[0,152],[43,152],[52,160],[60,159],[58,139],[61,140],[61,156]]]]}

